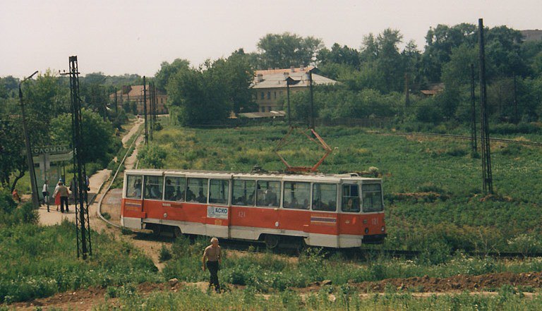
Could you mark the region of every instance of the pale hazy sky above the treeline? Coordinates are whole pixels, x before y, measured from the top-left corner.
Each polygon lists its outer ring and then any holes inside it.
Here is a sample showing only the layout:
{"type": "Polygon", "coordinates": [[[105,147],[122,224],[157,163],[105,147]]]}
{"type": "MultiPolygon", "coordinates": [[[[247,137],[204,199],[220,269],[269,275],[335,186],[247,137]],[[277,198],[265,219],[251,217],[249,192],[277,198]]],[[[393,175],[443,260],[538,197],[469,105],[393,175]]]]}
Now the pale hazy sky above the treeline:
{"type": "Polygon", "coordinates": [[[363,36],[400,30],[423,50],[438,24],[542,29],[540,0],[409,1],[78,1],[0,0],[0,76],[68,69],[77,55],[82,75],[152,76],[162,61],[192,65],[255,51],[267,33],[292,32],[359,49],[363,36]]]}

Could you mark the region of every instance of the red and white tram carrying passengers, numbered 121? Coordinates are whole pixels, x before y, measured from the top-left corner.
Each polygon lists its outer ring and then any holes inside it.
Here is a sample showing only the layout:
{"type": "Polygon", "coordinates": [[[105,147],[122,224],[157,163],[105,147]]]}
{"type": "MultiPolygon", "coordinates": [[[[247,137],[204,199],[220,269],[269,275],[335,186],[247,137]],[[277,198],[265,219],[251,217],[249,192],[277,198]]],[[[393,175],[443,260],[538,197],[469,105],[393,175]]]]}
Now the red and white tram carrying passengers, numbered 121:
{"type": "Polygon", "coordinates": [[[290,175],[127,170],[127,228],[242,240],[352,248],[382,243],[382,180],[353,174],[290,175]]]}

